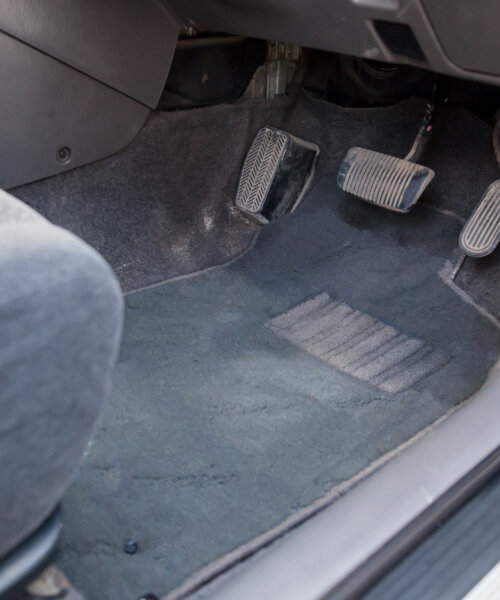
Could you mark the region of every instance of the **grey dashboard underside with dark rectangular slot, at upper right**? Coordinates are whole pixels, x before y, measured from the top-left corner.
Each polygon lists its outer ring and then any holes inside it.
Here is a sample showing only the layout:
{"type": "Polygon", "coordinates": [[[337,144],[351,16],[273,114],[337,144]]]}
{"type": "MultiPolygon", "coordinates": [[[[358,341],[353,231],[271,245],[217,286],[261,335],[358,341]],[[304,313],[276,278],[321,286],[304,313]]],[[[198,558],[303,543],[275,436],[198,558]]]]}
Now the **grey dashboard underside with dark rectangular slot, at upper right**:
{"type": "Polygon", "coordinates": [[[189,25],[500,83],[493,0],[169,0],[189,25]]]}

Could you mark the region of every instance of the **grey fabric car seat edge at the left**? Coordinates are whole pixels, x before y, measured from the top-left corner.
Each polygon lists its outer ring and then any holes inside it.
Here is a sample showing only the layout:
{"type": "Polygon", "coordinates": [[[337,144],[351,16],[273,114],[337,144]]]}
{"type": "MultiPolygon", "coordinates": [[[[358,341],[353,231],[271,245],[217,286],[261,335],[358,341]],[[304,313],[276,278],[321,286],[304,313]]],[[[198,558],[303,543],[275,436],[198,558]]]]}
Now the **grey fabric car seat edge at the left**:
{"type": "Polygon", "coordinates": [[[85,452],[122,303],[97,252],[0,190],[0,558],[54,510],[85,452]]]}

